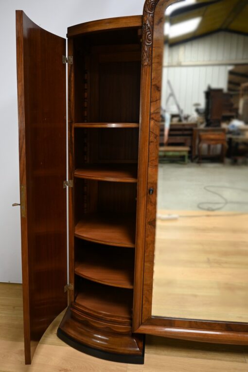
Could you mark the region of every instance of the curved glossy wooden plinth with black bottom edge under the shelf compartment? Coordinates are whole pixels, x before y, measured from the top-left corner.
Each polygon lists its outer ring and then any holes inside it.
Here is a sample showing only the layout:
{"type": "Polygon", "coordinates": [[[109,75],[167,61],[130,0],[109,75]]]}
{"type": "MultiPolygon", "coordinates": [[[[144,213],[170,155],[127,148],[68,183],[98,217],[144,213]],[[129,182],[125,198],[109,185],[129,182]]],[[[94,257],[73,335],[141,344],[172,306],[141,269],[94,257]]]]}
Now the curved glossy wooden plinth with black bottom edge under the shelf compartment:
{"type": "Polygon", "coordinates": [[[71,317],[68,308],[57,336],[85,354],[119,363],[144,363],[144,336],[105,332],[71,317]]]}

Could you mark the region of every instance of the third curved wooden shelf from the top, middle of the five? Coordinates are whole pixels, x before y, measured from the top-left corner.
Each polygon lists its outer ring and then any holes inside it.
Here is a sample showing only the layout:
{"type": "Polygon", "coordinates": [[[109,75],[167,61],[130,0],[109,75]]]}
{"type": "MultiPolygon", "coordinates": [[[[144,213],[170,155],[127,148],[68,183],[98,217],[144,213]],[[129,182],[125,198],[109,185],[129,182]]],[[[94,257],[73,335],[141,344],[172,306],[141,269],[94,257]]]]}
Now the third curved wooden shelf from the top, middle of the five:
{"type": "Polygon", "coordinates": [[[135,247],[133,213],[87,213],[77,223],[74,235],[89,242],[117,247],[135,247]]]}

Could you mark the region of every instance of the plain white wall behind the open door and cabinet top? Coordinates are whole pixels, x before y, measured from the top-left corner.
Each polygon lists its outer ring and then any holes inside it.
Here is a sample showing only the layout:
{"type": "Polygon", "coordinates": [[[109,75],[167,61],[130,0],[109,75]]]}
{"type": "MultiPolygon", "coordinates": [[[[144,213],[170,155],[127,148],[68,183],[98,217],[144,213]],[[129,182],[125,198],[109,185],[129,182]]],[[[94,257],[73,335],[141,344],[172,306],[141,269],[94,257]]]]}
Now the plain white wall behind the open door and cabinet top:
{"type": "Polygon", "coordinates": [[[66,37],[67,27],[142,14],[144,0],[0,0],[0,282],[21,283],[15,10],[66,37]]]}

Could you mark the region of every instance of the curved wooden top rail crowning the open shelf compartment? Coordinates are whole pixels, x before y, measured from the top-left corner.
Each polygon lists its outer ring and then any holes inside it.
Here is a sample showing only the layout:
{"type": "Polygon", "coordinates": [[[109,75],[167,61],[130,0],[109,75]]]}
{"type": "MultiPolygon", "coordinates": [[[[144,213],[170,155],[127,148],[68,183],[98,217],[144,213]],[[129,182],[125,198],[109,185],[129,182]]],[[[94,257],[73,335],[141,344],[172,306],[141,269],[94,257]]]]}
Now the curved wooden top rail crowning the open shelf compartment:
{"type": "Polygon", "coordinates": [[[142,16],[117,17],[81,23],[68,28],[68,37],[106,30],[120,30],[141,27],[142,16]]]}

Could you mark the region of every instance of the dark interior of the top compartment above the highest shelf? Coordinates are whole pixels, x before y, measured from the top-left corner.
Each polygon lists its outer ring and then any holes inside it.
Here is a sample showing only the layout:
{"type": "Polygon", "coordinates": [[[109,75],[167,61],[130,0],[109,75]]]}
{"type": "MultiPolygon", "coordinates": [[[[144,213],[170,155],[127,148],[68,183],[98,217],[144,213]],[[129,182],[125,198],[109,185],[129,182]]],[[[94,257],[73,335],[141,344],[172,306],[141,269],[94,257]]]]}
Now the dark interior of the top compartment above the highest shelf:
{"type": "Polygon", "coordinates": [[[140,35],[134,28],[73,38],[74,122],[139,123],[140,35]]]}

